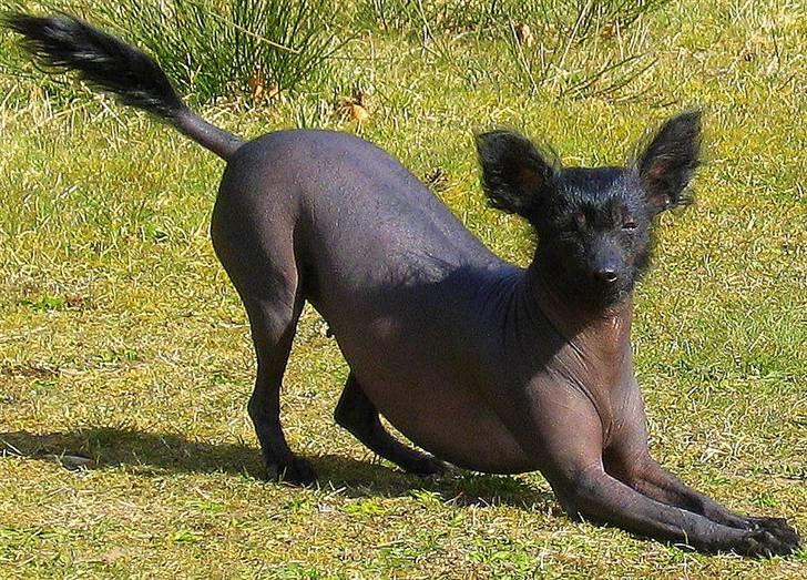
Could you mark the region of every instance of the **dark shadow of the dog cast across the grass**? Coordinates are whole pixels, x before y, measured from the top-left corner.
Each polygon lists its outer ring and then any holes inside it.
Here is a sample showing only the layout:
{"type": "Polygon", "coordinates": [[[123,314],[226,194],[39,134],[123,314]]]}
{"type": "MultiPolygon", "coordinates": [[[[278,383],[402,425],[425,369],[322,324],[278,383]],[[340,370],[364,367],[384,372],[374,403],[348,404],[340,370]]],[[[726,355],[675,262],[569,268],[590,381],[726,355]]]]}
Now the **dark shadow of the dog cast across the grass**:
{"type": "MultiPolygon", "coordinates": [[[[262,479],[264,475],[258,449],[243,442],[200,442],[177,434],[116,427],[93,426],[49,434],[0,433],[1,456],[54,461],[75,469],[125,466],[142,476],[166,471],[225,472],[262,479]]],[[[320,488],[338,489],[351,498],[397,497],[426,490],[459,505],[504,503],[544,512],[558,509],[550,492],[509,476],[457,470],[423,478],[382,464],[336,455],[307,456],[307,459],[317,471],[320,488]]]]}

